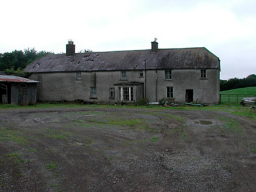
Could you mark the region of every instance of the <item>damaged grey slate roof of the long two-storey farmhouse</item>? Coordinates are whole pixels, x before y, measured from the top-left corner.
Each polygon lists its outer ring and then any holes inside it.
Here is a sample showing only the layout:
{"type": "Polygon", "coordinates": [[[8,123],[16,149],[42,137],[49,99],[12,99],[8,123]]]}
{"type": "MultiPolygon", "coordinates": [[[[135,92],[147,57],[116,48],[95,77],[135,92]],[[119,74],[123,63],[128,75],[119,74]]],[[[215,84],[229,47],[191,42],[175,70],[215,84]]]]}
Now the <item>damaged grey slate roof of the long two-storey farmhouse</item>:
{"type": "Polygon", "coordinates": [[[183,49],[130,50],[50,54],[26,66],[25,71],[46,73],[64,71],[117,71],[219,68],[220,60],[205,47],[183,49]]]}

